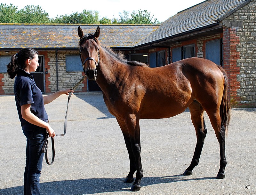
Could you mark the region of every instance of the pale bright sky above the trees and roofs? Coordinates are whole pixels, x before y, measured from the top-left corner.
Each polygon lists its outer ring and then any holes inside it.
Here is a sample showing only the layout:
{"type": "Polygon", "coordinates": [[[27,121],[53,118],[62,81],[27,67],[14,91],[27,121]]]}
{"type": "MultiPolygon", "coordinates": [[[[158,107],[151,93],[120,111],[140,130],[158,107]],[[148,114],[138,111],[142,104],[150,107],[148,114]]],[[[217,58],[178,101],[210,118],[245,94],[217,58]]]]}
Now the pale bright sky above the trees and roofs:
{"type": "Polygon", "coordinates": [[[83,10],[92,10],[99,11],[100,18],[119,19],[119,13],[123,13],[123,11],[128,11],[131,14],[134,10],[147,10],[150,12],[151,17],[154,15],[153,18],[157,18],[159,22],[163,22],[177,12],[203,1],[205,0],[2,0],[1,3],[17,6],[18,10],[27,5],[39,5],[43,11],[49,14],[49,18],[55,18],[57,15],[70,15],[74,12],[81,13],[83,10]]]}

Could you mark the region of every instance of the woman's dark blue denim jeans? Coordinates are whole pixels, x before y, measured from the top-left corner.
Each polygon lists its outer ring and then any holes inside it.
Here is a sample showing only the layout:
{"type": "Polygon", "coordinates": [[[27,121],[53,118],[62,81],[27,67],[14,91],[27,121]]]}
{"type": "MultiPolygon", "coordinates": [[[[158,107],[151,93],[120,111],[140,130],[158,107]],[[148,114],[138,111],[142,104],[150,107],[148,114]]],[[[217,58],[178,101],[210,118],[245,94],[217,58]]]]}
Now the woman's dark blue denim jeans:
{"type": "Polygon", "coordinates": [[[46,137],[46,129],[38,127],[33,131],[23,131],[23,133],[27,137],[24,195],[36,195],[40,194],[39,177],[44,158],[42,147],[46,137]]]}

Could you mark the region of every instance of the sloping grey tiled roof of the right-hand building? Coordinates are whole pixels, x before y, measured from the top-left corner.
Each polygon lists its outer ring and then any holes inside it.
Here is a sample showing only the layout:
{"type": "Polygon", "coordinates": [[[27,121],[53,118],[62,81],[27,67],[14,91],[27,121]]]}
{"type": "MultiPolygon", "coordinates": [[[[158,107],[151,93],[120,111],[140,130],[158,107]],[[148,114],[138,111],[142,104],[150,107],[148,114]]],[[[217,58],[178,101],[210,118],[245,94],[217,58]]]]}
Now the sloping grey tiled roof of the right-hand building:
{"type": "Polygon", "coordinates": [[[239,5],[249,3],[250,1],[252,0],[206,0],[170,17],[156,31],[149,34],[139,43],[134,44],[134,46],[140,46],[197,28],[216,24],[218,19],[224,19],[223,17],[227,17],[236,8],[239,8],[239,5]]]}

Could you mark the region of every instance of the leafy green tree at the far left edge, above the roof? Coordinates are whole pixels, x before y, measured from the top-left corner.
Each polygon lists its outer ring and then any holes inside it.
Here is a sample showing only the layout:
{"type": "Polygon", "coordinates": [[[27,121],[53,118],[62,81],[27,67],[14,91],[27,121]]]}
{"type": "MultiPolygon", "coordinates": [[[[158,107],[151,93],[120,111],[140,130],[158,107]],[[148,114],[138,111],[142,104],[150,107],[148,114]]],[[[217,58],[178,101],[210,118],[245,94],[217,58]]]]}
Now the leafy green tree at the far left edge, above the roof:
{"type": "Polygon", "coordinates": [[[17,23],[18,22],[17,7],[10,4],[0,5],[0,23],[17,23]]]}

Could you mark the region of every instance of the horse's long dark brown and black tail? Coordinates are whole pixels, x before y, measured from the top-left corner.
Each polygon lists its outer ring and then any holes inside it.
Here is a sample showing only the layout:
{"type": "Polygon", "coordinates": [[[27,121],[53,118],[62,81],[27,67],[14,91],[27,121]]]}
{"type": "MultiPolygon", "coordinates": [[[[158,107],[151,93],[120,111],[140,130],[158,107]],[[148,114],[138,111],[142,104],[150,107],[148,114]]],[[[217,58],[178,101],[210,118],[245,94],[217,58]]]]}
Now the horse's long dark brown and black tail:
{"type": "Polygon", "coordinates": [[[219,69],[221,70],[221,72],[224,75],[224,90],[223,90],[223,95],[222,95],[222,100],[221,100],[221,104],[220,104],[220,118],[221,118],[221,122],[224,125],[225,129],[226,129],[226,133],[228,132],[228,126],[230,124],[230,101],[229,101],[229,97],[228,97],[228,76],[226,71],[221,68],[220,66],[218,66],[219,69]]]}

